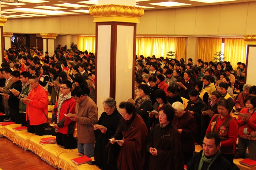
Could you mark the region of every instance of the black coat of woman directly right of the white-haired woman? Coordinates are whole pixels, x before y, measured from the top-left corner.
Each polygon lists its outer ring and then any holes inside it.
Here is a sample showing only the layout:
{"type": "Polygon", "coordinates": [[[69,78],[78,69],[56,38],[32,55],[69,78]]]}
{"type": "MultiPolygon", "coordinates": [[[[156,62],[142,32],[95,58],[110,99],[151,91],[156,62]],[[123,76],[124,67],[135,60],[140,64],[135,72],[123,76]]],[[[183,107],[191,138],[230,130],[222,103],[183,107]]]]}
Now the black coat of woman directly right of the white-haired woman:
{"type": "MultiPolygon", "coordinates": [[[[199,97],[199,96],[198,96],[199,97]]],[[[196,118],[196,136],[195,136],[195,142],[201,144],[203,141],[203,136],[201,136],[201,111],[204,107],[205,103],[203,100],[199,97],[199,101],[191,106],[191,100],[188,101],[187,110],[195,112],[193,116],[196,118]]]]}

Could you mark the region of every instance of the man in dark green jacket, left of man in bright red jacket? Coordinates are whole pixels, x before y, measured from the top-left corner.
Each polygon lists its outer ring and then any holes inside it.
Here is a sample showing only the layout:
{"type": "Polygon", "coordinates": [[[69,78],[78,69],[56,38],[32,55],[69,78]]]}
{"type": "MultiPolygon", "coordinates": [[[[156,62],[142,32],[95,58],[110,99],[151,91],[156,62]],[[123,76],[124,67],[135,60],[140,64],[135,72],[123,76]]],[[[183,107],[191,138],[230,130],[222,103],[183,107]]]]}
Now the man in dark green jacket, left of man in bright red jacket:
{"type": "MultiPolygon", "coordinates": [[[[15,96],[21,97],[21,98],[27,98],[29,96],[31,87],[29,85],[29,78],[30,74],[29,72],[22,72],[20,73],[20,81],[22,82],[22,90],[20,93],[13,93],[15,96]]],[[[19,114],[20,114],[20,119],[21,119],[21,125],[22,126],[27,126],[27,121],[26,121],[26,110],[27,110],[27,105],[23,103],[22,99],[19,100],[19,114]]]]}

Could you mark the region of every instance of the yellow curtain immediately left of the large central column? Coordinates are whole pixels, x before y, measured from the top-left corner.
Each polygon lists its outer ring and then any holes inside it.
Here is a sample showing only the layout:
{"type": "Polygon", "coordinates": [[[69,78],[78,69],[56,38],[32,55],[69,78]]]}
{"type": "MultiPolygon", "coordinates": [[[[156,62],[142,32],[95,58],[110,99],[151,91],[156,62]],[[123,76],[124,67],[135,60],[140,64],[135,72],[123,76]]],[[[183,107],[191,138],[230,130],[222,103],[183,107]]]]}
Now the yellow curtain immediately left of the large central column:
{"type": "Polygon", "coordinates": [[[77,46],[80,51],[95,53],[95,36],[78,36],[77,46]]]}

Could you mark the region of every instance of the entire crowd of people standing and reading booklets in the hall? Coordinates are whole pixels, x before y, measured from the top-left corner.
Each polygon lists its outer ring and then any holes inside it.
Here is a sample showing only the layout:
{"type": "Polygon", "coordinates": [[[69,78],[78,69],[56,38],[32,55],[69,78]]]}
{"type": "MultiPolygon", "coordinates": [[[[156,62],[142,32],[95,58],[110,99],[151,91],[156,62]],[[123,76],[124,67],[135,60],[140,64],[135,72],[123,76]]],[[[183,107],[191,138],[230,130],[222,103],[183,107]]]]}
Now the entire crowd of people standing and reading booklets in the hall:
{"type": "Polygon", "coordinates": [[[226,61],[199,59],[195,66],[191,58],[185,63],[140,55],[135,104],[106,98],[98,118],[94,54],[48,54],[34,46],[4,51],[1,121],[56,135],[58,145],[78,148],[78,155],[94,157],[93,164],[106,170],[231,170],[234,157],[256,160],[256,86],[245,84],[244,63],[233,69],[226,61]],[[54,131],[45,130],[48,105],[54,105],[54,131]],[[241,113],[237,119],[235,111],[241,113]],[[196,154],[195,144],[203,146],[196,154]]]}

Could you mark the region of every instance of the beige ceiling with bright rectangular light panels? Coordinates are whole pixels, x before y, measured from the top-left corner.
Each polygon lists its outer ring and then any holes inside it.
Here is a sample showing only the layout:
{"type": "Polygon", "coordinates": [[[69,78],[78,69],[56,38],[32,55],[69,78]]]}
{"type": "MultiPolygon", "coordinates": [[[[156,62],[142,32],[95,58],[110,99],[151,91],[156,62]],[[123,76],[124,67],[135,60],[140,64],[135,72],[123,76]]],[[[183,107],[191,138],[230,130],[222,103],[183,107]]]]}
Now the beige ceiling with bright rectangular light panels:
{"type": "MultiPolygon", "coordinates": [[[[242,3],[255,0],[136,0],[136,5],[145,7],[145,10],[154,9],[166,9],[166,8],[182,8],[182,7],[196,7],[206,5],[219,5],[219,4],[231,4],[242,3]],[[217,3],[204,3],[216,2],[217,3]],[[222,2],[219,2],[222,1],[222,2]],[[154,3],[171,3],[165,6],[159,6],[154,3]],[[153,3],[153,4],[152,4],[153,3]],[[181,6],[172,6],[180,5],[181,6]],[[147,8],[150,7],[150,8],[147,8]]],[[[1,2],[1,14],[8,18],[25,18],[25,17],[46,17],[46,16],[60,16],[60,15],[84,15],[89,14],[90,5],[97,4],[97,0],[19,0],[20,4],[2,3],[1,2]],[[74,6],[72,5],[74,4],[74,6]],[[48,6],[48,7],[45,7],[48,6]],[[38,11],[39,10],[39,11],[38,11]]],[[[161,4],[160,4],[161,5],[161,4]]]]}

